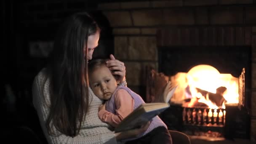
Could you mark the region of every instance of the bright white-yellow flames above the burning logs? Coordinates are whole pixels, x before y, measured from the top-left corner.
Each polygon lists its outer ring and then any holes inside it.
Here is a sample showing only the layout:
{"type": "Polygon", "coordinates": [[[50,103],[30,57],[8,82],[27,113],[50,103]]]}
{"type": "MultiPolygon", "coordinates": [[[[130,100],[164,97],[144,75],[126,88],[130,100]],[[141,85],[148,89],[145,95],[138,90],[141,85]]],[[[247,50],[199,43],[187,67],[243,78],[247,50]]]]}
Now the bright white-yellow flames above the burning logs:
{"type": "MultiPolygon", "coordinates": [[[[216,68],[210,65],[198,65],[193,67],[187,73],[187,85],[192,99],[197,99],[198,102],[208,105],[211,109],[225,108],[225,104],[238,104],[238,78],[231,74],[221,74],[216,68]],[[196,88],[216,93],[217,88],[224,87],[226,91],[221,93],[226,101],[222,106],[217,106],[209,99],[208,93],[202,96],[196,88]]],[[[188,105],[190,106],[190,105],[188,105]]]]}

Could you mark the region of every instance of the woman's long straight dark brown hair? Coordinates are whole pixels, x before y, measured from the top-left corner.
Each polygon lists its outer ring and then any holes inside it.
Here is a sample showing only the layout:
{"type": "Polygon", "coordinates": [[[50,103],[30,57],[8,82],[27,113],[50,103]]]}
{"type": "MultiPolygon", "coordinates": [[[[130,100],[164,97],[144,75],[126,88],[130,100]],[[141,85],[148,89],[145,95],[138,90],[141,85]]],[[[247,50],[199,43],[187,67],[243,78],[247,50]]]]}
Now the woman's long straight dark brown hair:
{"type": "Polygon", "coordinates": [[[59,27],[50,56],[51,107],[46,121],[67,136],[76,136],[88,110],[88,36],[100,33],[88,13],[75,13],[59,27]],[[83,48],[86,48],[85,54],[83,48]]]}

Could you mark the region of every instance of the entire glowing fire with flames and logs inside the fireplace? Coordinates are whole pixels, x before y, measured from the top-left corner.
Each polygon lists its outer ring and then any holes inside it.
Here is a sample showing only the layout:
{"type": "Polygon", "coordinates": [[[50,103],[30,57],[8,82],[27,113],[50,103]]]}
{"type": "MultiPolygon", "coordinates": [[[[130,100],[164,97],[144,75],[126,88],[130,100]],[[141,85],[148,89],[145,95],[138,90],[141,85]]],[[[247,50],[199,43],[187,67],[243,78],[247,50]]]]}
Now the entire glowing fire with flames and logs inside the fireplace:
{"type": "Polygon", "coordinates": [[[187,73],[178,72],[171,76],[171,82],[179,85],[171,102],[183,102],[184,107],[225,109],[226,104],[239,103],[239,77],[221,74],[210,65],[201,64],[187,73]],[[189,102],[184,101],[188,99],[189,102]]]}

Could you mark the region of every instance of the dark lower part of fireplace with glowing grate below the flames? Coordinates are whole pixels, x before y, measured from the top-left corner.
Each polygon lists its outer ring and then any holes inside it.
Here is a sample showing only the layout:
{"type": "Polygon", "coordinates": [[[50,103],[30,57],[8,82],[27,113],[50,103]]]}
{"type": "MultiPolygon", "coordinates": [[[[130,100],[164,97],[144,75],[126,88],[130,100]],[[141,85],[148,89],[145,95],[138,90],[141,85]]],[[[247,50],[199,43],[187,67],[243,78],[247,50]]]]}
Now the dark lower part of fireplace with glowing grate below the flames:
{"type": "MultiPolygon", "coordinates": [[[[239,110],[236,106],[227,106],[226,109],[217,109],[218,114],[220,110],[226,111],[222,119],[203,116],[201,121],[197,121],[197,118],[195,118],[194,122],[192,119],[194,115],[198,114],[197,110],[199,109],[203,108],[184,108],[179,105],[172,105],[159,116],[166,123],[168,129],[181,131],[189,136],[197,137],[197,139],[218,141],[234,138],[249,138],[249,116],[245,110],[239,110]],[[187,114],[189,110],[192,110],[192,112],[183,117],[184,109],[186,109],[187,114]]],[[[209,109],[205,110],[208,112],[209,109]]],[[[212,112],[214,111],[212,110],[212,112]]]]}

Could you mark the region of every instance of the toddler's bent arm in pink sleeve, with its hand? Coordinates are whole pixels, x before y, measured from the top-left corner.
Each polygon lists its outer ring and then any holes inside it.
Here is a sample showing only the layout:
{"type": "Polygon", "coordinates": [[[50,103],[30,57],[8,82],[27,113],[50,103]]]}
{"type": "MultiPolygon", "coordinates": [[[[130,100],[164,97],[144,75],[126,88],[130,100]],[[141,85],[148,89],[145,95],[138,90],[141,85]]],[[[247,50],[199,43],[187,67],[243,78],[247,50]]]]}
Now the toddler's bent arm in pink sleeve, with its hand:
{"type": "Polygon", "coordinates": [[[116,104],[116,115],[108,112],[105,105],[99,107],[99,118],[117,127],[117,125],[133,111],[134,100],[131,95],[124,89],[120,89],[115,94],[115,104],[116,104]]]}

